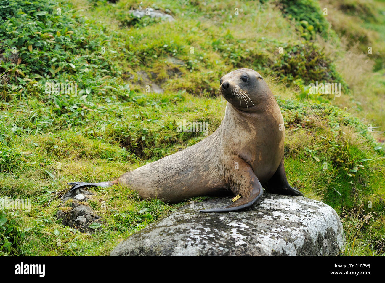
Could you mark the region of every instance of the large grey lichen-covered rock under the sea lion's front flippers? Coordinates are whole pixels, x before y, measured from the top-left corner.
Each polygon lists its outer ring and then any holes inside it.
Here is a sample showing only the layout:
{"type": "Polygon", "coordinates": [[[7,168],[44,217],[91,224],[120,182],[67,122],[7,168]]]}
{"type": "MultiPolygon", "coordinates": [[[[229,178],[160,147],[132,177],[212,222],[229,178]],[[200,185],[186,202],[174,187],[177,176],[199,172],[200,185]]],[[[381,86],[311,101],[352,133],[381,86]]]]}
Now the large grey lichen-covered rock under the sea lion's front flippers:
{"type": "Polygon", "coordinates": [[[335,210],[300,196],[265,193],[245,211],[198,212],[230,200],[184,206],[132,234],[111,256],[335,256],[343,247],[335,210]]]}

